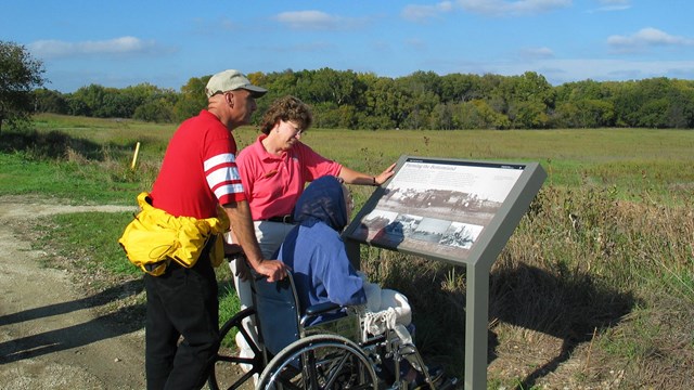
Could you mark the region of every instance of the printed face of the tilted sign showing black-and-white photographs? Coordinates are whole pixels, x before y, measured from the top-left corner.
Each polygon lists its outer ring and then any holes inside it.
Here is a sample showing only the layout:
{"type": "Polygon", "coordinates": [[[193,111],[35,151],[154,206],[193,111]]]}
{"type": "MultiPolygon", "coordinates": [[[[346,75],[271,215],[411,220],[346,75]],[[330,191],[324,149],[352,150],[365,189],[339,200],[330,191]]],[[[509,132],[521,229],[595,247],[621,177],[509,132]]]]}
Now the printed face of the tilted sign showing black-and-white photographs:
{"type": "Polygon", "coordinates": [[[524,166],[428,160],[404,161],[350,238],[466,259],[524,166]]]}

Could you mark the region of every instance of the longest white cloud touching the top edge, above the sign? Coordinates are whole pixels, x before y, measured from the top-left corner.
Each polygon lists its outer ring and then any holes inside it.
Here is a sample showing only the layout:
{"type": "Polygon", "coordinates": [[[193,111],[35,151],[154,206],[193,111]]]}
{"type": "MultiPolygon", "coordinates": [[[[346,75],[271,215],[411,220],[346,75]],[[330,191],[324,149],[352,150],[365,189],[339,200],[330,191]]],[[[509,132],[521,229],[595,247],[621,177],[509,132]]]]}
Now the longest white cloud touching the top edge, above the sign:
{"type": "Polygon", "coordinates": [[[458,0],[465,11],[489,16],[517,16],[568,8],[571,0],[458,0]]]}

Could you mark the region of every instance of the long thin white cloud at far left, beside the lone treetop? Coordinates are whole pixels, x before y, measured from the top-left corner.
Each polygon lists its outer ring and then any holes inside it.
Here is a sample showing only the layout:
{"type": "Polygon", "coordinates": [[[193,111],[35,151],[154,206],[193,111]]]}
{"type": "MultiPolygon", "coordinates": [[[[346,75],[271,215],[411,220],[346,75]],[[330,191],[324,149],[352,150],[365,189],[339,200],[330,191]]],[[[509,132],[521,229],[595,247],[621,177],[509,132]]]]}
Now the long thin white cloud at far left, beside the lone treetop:
{"type": "Polygon", "coordinates": [[[156,49],[154,41],[143,41],[136,37],[120,37],[102,41],[65,42],[39,40],[27,46],[31,53],[42,58],[73,56],[124,55],[146,53],[156,49]]]}

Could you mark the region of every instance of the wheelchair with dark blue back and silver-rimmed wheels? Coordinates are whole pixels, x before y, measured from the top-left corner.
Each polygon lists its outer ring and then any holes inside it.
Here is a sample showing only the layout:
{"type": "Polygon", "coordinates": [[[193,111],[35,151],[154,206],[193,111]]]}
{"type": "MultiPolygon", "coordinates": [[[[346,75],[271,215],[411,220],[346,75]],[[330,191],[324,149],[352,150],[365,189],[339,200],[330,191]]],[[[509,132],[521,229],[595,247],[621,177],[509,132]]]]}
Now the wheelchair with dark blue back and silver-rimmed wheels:
{"type": "Polygon", "coordinates": [[[230,318],[220,338],[233,340],[240,333],[254,355],[242,358],[235,348],[221,347],[208,379],[213,390],[249,389],[254,382],[255,389],[408,390],[403,364],[424,375],[425,389],[455,388],[455,378],[435,381],[416,347],[398,332],[364,332],[360,308],[323,303],[301,310],[292,276],[277,283],[254,277],[252,291],[254,306],[230,318]],[[243,326],[247,318],[255,320],[259,344],[243,326]],[[229,375],[242,372],[241,365],[245,373],[229,375]]]}

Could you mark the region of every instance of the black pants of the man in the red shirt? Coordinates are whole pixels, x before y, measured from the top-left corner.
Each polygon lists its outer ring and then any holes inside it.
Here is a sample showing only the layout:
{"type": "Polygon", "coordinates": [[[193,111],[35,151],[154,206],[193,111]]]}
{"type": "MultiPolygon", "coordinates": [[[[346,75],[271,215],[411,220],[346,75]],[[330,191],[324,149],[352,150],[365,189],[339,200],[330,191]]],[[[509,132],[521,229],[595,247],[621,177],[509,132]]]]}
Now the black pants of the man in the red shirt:
{"type": "Polygon", "coordinates": [[[166,273],[145,274],[144,282],[147,389],[202,388],[219,347],[217,280],[207,251],[191,269],[171,261],[166,273]]]}

